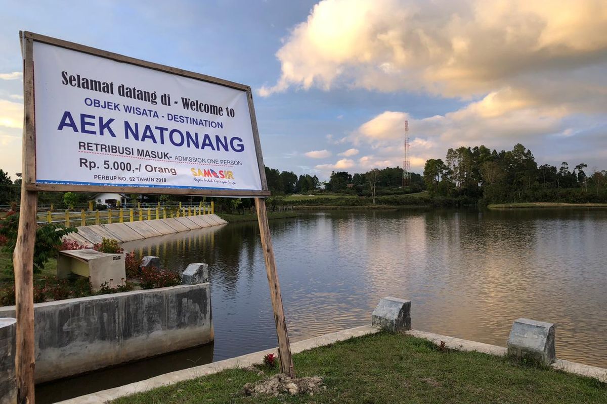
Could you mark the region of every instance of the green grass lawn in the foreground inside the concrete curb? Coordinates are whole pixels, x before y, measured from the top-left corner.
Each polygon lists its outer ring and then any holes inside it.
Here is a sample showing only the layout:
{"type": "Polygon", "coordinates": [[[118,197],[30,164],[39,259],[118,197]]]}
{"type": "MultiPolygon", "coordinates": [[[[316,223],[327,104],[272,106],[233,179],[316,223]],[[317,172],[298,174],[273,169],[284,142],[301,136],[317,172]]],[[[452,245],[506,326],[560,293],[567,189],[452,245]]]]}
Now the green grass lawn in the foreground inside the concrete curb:
{"type": "Polygon", "coordinates": [[[245,397],[242,386],[269,376],[230,369],[112,403],[607,403],[607,385],[503,357],[441,352],[423,339],[380,333],[294,356],[297,376],[320,376],[314,396],[245,397]]]}

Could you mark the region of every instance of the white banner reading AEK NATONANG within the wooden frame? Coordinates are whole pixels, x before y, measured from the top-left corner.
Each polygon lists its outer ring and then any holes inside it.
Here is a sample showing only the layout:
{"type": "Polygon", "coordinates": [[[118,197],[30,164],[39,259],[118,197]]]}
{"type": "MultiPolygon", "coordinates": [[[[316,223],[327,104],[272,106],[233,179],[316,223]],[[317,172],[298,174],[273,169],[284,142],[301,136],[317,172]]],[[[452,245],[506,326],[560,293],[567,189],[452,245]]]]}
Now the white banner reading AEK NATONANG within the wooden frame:
{"type": "Polygon", "coordinates": [[[34,42],[36,182],[262,190],[247,93],[34,42]]]}

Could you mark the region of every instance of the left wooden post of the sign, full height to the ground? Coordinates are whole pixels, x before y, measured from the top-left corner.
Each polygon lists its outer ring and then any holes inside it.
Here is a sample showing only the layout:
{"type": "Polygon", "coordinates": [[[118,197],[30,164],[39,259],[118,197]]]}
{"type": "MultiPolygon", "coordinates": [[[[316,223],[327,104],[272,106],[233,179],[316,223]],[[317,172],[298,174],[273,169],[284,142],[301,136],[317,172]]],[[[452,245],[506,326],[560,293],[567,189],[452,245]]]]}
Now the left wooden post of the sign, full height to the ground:
{"type": "Polygon", "coordinates": [[[17,402],[34,404],[34,245],[36,241],[36,205],[38,193],[26,191],[26,184],[36,180],[35,119],[33,88],[33,41],[22,38],[23,54],[23,153],[21,182],[21,211],[17,242],[13,252],[15,271],[16,349],[15,376],[17,380],[17,402]],[[30,154],[31,153],[31,154],[30,154]]]}

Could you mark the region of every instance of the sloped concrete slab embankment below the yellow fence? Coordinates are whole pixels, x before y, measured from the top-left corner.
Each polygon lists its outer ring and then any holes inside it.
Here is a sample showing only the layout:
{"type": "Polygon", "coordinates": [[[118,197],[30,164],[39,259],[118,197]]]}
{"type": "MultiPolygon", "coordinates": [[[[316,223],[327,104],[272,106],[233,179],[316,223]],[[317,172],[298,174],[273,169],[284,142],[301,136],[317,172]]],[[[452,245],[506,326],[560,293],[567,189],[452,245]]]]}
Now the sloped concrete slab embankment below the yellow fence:
{"type": "Polygon", "coordinates": [[[167,219],[137,220],[135,222],[112,223],[78,227],[78,233],[68,234],[64,239],[74,240],[87,247],[100,243],[105,237],[118,242],[148,239],[180,231],[225,225],[228,222],[216,214],[182,216],[167,219]]]}

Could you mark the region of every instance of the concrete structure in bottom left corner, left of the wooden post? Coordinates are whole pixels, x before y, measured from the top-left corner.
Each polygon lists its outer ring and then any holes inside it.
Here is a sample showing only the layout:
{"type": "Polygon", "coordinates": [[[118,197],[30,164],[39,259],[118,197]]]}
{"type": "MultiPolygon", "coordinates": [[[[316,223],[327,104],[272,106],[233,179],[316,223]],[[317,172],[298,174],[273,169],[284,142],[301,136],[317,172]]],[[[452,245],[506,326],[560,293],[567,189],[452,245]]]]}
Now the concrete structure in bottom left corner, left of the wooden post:
{"type": "Polygon", "coordinates": [[[15,379],[16,319],[0,319],[0,404],[17,402],[15,379]]]}

